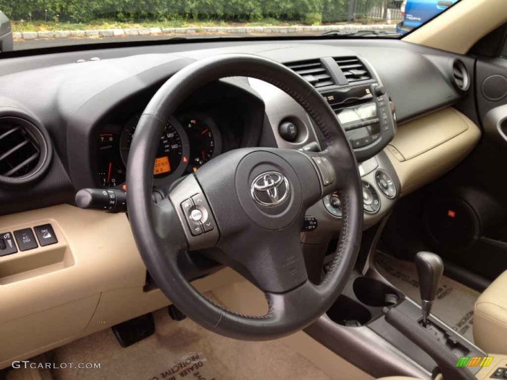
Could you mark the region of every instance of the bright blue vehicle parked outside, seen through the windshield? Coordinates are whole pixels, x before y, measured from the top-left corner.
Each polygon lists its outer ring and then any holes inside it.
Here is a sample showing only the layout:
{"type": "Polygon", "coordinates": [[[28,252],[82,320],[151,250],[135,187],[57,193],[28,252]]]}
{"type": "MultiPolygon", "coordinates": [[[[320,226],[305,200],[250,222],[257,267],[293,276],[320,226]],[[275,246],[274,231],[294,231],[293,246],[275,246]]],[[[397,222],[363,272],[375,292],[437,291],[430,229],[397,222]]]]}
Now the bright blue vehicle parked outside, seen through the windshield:
{"type": "Polygon", "coordinates": [[[403,20],[396,24],[398,33],[408,33],[445,11],[458,0],[406,0],[402,5],[403,20]],[[405,12],[403,8],[405,7],[405,12]],[[404,12],[404,13],[403,13],[404,12]]]}

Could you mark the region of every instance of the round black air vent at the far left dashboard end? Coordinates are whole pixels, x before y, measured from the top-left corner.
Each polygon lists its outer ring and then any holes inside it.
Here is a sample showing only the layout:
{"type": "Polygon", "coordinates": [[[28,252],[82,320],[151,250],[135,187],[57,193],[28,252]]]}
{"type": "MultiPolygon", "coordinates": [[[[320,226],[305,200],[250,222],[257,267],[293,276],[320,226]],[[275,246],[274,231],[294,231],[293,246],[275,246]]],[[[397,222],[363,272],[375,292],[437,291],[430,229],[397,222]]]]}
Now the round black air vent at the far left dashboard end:
{"type": "Polygon", "coordinates": [[[0,184],[29,183],[43,174],[51,159],[47,133],[34,123],[0,117],[0,184]]]}

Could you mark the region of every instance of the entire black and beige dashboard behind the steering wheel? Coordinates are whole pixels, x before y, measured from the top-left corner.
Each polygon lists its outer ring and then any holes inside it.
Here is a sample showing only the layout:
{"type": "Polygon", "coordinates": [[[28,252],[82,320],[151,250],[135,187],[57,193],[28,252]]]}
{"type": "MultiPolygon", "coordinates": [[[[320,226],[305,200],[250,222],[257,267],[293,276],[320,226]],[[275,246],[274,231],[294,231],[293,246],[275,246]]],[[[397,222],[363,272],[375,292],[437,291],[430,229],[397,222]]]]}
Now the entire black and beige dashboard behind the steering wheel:
{"type": "MultiPolygon", "coordinates": [[[[397,40],[184,42],[0,60],[0,142],[9,146],[0,146],[0,232],[50,224],[58,239],[0,254],[0,298],[10,305],[0,316],[0,333],[9,342],[9,350],[0,348],[0,368],[167,305],[150,286],[127,217],[103,207],[80,209],[75,197],[85,188],[106,197],[128,191],[130,144],[153,95],[188,64],[228,53],[282,63],[328,101],[354,149],[365,229],[479,141],[476,123],[457,106],[470,105],[473,96],[453,75],[461,70],[469,78],[472,58],[397,40]],[[18,146],[18,161],[5,161],[18,146]],[[48,334],[36,333],[43,330],[48,334]],[[27,338],[19,339],[19,331],[27,338]]],[[[291,96],[253,78],[203,84],[164,123],[153,153],[161,194],[233,149],[304,152],[327,144],[291,96]]],[[[306,215],[301,242],[325,253],[340,231],[340,194],[324,195],[306,215]]],[[[212,276],[196,286],[207,290],[227,282],[212,276]]]]}

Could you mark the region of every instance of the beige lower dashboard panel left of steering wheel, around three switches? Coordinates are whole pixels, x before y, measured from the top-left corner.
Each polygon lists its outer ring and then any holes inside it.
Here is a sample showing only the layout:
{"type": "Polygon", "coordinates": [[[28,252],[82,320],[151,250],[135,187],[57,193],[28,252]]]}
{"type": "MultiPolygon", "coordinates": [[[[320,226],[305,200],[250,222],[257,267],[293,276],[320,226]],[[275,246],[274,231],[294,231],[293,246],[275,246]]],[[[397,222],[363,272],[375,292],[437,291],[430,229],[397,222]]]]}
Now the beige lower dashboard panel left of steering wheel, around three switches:
{"type": "MultiPolygon", "coordinates": [[[[0,369],[130,318],[169,300],[144,290],[146,267],[125,214],[70,205],[0,217],[0,232],[51,223],[58,243],[0,257],[0,369]]],[[[200,291],[242,278],[225,268],[200,291]]]]}

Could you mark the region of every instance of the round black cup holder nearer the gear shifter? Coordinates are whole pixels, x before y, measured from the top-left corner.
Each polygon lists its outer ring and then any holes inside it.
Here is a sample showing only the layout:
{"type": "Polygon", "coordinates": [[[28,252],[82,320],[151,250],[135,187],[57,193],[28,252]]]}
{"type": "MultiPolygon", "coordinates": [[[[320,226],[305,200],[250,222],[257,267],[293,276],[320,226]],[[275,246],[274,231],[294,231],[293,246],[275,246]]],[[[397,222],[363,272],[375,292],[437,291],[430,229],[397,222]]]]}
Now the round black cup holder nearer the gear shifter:
{"type": "Polygon", "coordinates": [[[352,288],[357,299],[371,307],[394,305],[400,298],[389,285],[370,277],[357,277],[352,288]]]}

